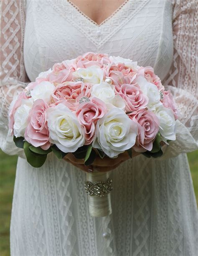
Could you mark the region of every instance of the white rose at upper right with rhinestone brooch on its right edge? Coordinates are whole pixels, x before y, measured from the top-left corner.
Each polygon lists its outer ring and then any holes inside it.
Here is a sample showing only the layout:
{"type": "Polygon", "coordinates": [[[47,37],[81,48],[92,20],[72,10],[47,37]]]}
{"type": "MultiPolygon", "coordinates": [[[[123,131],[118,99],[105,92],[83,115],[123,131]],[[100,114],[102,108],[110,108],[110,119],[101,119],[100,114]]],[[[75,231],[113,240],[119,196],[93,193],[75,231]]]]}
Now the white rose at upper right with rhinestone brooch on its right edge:
{"type": "Polygon", "coordinates": [[[137,78],[137,84],[140,86],[141,91],[148,97],[149,102],[147,108],[151,111],[155,111],[157,107],[162,105],[160,102],[160,93],[155,84],[147,82],[146,78],[139,76],[137,78]]]}

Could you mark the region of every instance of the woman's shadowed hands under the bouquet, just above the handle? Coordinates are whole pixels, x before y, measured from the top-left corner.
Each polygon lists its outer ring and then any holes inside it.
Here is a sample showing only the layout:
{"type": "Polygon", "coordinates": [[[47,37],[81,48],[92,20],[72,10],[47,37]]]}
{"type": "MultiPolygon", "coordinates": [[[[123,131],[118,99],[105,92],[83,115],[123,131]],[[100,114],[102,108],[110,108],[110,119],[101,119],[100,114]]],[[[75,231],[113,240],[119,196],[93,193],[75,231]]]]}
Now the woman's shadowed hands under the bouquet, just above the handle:
{"type": "MultiPolygon", "coordinates": [[[[139,154],[140,153],[132,150],[132,158],[139,154]]],[[[127,152],[119,154],[117,158],[104,157],[101,159],[99,156],[96,156],[96,159],[91,166],[85,166],[84,159],[77,159],[71,153],[67,154],[63,159],[85,172],[91,172],[93,168],[101,172],[108,172],[117,168],[122,162],[128,160],[129,158],[129,154],[127,152]]]]}

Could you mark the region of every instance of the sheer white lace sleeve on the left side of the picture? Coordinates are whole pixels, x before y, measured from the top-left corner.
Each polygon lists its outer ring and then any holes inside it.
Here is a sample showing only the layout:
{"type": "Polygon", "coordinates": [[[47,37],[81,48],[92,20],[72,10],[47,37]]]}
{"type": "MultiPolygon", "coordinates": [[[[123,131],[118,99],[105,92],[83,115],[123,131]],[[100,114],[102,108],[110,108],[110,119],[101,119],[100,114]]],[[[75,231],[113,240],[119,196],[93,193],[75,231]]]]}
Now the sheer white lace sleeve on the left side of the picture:
{"type": "Polygon", "coordinates": [[[7,154],[21,154],[8,130],[10,103],[29,83],[23,61],[25,0],[2,0],[0,3],[0,148],[7,154]]]}

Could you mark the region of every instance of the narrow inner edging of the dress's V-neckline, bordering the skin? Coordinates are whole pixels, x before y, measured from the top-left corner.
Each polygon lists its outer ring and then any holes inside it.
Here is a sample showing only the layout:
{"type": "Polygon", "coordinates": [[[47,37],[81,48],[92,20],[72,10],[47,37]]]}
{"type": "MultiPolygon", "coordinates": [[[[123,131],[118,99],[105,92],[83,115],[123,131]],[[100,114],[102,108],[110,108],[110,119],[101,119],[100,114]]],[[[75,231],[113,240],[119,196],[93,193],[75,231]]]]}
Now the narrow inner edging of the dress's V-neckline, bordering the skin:
{"type": "Polygon", "coordinates": [[[70,0],[67,0],[67,2],[69,3],[69,5],[71,5],[75,10],[77,10],[77,12],[83,16],[86,20],[90,21],[91,24],[94,24],[96,27],[101,27],[103,24],[106,24],[107,21],[109,21],[110,19],[112,19],[120,10],[122,10],[122,8],[125,7],[125,5],[127,5],[130,0],[125,0],[124,3],[122,3],[122,5],[120,5],[116,10],[114,10],[114,12],[107,18],[104,19],[104,21],[102,21],[100,24],[97,24],[96,21],[93,21],[89,16],[87,16],[84,12],[82,12],[80,10],[80,8],[75,5],[74,3],[72,3],[70,0]]]}

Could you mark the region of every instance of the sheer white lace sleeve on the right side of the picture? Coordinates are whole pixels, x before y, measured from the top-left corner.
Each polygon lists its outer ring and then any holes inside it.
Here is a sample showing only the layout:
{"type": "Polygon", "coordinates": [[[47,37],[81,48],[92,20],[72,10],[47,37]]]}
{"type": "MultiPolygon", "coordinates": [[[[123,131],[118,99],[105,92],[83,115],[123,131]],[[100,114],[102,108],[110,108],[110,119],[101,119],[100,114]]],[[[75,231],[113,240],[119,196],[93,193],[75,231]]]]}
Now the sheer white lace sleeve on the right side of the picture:
{"type": "Polygon", "coordinates": [[[198,148],[198,0],[174,0],[174,57],[165,87],[174,95],[180,112],[176,122],[176,141],[162,158],[198,148]],[[171,86],[170,86],[171,85],[171,86]]]}

